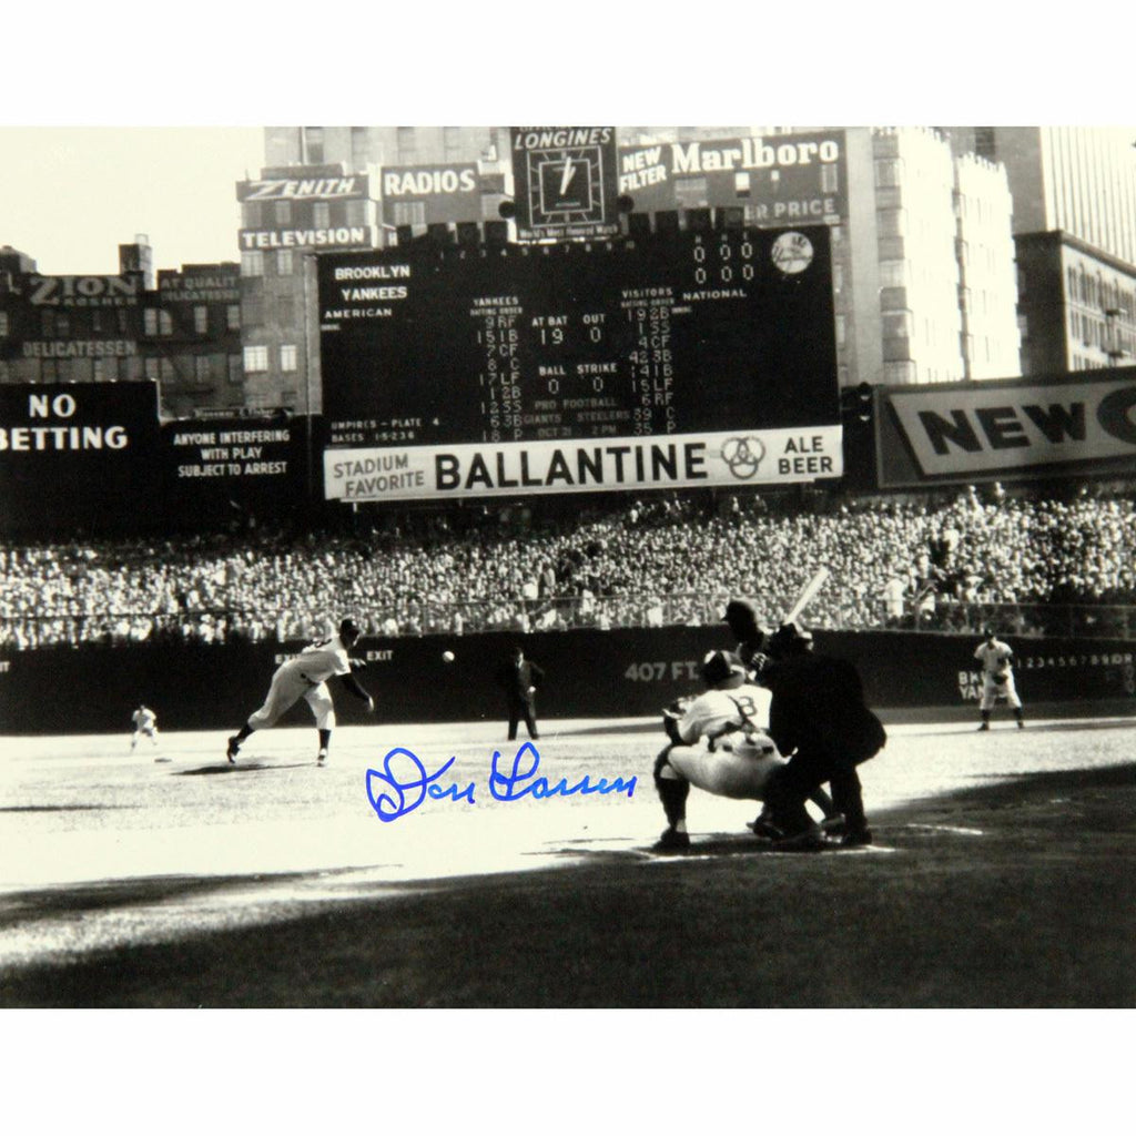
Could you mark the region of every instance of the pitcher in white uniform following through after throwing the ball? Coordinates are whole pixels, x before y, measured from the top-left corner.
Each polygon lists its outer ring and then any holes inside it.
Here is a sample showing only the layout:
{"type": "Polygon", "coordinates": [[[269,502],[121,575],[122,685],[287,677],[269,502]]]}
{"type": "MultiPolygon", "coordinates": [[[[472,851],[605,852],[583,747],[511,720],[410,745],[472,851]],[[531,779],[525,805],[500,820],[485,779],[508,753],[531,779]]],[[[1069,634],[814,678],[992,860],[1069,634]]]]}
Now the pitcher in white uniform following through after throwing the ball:
{"type": "Polygon", "coordinates": [[[332,701],[332,692],[327,688],[327,679],[339,676],[352,694],[367,703],[368,711],[375,709],[375,700],[351,674],[352,670],[361,670],[366,666],[362,659],[352,659],[348,654],[359,635],[358,625],[351,619],[344,619],[340,624],[337,635],[311,643],[294,659],[281,663],[273,675],[265,704],[249,718],[239,734],[228,740],[225,757],[228,758],[229,765],[236,763],[241,743],[250,734],[275,726],[284,711],[300,699],[311,707],[315,716],[316,728],[319,730],[319,754],[316,760],[319,765],[324,765],[327,761],[332,730],[335,728],[335,703],[332,701]]]}

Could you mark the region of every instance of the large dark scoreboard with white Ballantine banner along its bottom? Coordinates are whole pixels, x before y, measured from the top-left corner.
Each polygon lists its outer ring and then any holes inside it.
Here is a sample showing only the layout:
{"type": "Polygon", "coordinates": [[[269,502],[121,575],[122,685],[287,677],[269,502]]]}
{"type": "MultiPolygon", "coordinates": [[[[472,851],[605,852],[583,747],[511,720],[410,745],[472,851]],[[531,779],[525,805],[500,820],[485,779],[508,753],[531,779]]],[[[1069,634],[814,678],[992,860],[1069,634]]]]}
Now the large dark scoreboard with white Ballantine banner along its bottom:
{"type": "Polygon", "coordinates": [[[416,243],[318,273],[329,496],[840,473],[827,227],[416,243]],[[778,473],[785,441],[827,466],[778,473]]]}

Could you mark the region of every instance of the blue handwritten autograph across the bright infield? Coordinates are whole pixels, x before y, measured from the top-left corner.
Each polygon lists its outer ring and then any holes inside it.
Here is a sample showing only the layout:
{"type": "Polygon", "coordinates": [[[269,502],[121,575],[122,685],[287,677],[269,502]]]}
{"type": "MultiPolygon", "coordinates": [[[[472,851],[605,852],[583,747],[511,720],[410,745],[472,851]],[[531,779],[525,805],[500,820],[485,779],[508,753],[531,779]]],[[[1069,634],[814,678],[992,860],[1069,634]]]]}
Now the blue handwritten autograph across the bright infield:
{"type": "MultiPolygon", "coordinates": [[[[438,778],[456,760],[450,758],[434,772],[427,772],[426,767],[410,750],[401,746],[391,750],[383,759],[382,771],[367,770],[367,800],[370,801],[370,807],[378,815],[378,819],[398,820],[399,817],[414,812],[427,796],[435,801],[466,801],[468,804],[476,804],[474,782],[469,782],[465,787],[452,782],[449,785],[437,784],[438,778]]],[[[580,795],[600,793],[604,796],[609,793],[626,793],[630,799],[635,793],[637,780],[635,777],[626,782],[623,777],[616,777],[611,782],[601,777],[593,784],[587,776],[584,776],[575,785],[569,785],[568,779],[562,777],[556,785],[550,785],[546,777],[536,776],[541,755],[532,742],[526,742],[517,751],[511,766],[502,769],[498,763],[500,761],[501,754],[494,750],[488,788],[490,795],[495,801],[519,801],[525,796],[540,801],[548,796],[573,796],[577,793],[580,795]],[[526,759],[527,763],[523,763],[526,759]]]]}

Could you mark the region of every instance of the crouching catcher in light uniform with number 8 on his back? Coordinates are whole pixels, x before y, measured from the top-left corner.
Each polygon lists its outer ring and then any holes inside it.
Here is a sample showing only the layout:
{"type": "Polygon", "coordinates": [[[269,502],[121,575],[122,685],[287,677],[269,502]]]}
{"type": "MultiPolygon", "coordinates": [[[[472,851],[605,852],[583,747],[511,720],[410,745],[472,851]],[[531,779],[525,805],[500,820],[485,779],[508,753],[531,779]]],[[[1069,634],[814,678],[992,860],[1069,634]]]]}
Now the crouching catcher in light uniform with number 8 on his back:
{"type": "MultiPolygon", "coordinates": [[[[654,845],[657,851],[691,846],[686,832],[691,785],[716,796],[760,801],[770,774],[786,763],[766,733],[771,695],[750,682],[736,654],[711,651],[702,661],[702,680],[704,693],[663,711],[670,744],[655,759],[654,785],[667,828],[654,845]],[[705,749],[696,745],[702,738],[708,742],[705,749]]],[[[826,816],[832,815],[833,803],[822,790],[812,800],[826,816]]]]}

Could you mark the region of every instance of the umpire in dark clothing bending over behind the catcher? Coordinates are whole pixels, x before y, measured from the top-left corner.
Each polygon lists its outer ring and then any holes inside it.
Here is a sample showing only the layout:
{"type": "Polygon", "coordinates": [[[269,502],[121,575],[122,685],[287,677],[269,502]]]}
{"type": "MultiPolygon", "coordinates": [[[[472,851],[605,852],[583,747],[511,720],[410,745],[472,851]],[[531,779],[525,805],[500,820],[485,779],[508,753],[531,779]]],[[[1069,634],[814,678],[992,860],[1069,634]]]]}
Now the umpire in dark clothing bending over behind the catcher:
{"type": "Polygon", "coordinates": [[[812,651],[812,636],[793,624],[779,627],[757,657],[760,680],[772,694],[769,735],[788,765],[766,786],[770,820],[786,846],[824,843],[804,808],[809,794],[828,783],[833,804],[844,813],[841,843],[871,843],[857,767],[886,744],[883,724],[864,704],[863,684],[845,659],[812,651]]]}

